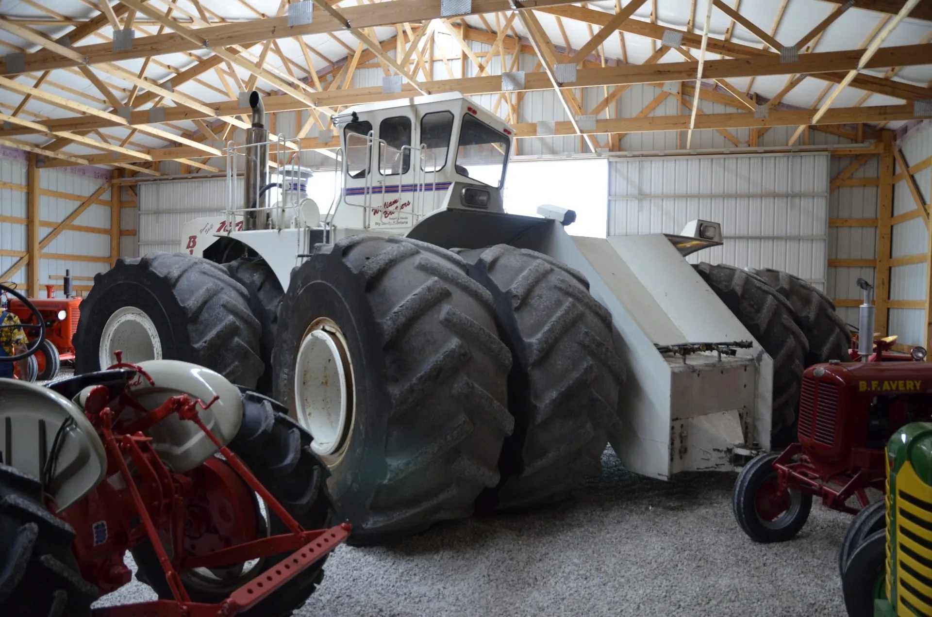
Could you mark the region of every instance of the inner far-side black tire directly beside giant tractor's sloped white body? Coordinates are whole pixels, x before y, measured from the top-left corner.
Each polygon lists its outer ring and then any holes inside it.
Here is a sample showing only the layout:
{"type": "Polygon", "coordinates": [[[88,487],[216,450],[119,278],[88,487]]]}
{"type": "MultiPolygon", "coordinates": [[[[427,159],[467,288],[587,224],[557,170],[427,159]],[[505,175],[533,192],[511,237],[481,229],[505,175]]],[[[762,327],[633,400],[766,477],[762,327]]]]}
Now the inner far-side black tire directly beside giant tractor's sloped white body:
{"type": "Polygon", "coordinates": [[[792,307],[786,298],[746,270],[706,262],[695,268],[774,361],[771,446],[795,441],[802,370],[809,344],[793,321],[792,307]]]}

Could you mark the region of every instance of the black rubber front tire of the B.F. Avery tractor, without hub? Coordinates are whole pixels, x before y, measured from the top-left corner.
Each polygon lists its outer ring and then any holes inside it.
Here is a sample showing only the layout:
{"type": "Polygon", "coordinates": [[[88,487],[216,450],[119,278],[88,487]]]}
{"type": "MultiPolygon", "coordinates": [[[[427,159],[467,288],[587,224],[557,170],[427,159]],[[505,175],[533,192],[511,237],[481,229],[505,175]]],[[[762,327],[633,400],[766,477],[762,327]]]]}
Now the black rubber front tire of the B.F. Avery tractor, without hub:
{"type": "Polygon", "coordinates": [[[732,494],[734,520],[754,542],[786,542],[800,532],[813,507],[813,496],[788,489],[788,509],[773,520],[766,521],[758,509],[761,488],[766,489],[776,479],[774,460],[779,453],[761,454],[752,459],[738,474],[732,494]]]}

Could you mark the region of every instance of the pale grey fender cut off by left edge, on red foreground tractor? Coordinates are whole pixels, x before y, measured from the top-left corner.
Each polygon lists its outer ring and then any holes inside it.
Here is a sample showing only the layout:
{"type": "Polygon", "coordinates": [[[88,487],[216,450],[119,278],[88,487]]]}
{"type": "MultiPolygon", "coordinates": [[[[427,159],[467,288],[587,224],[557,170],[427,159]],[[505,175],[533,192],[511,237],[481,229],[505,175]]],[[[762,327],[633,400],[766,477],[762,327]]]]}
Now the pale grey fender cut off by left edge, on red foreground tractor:
{"type": "Polygon", "coordinates": [[[69,418],[72,424],[62,429],[54,474],[46,486],[59,511],[103,480],[107,469],[103,442],[84,412],[62,394],[26,381],[0,379],[0,454],[4,464],[43,478],[42,461],[48,460],[55,435],[69,418]],[[40,451],[43,444],[46,452],[40,451]]]}

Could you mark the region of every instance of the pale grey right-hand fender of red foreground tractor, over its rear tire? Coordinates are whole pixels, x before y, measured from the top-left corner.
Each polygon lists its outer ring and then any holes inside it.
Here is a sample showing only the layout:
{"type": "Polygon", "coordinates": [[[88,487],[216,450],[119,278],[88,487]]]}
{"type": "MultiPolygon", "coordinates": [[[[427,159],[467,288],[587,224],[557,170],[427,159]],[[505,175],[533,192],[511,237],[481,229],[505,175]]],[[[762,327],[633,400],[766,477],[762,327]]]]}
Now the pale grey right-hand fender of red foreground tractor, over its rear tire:
{"type": "MultiPolygon", "coordinates": [[[[208,409],[199,408],[199,417],[223,446],[232,441],[242,423],[240,391],[226,377],[198,364],[177,360],[149,360],[139,366],[152,377],[130,385],[128,391],[150,411],[172,396],[187,394],[203,404],[219,397],[208,409]]],[[[194,422],[171,415],[148,430],[158,456],[171,470],[185,473],[217,453],[218,448],[194,422]]]]}

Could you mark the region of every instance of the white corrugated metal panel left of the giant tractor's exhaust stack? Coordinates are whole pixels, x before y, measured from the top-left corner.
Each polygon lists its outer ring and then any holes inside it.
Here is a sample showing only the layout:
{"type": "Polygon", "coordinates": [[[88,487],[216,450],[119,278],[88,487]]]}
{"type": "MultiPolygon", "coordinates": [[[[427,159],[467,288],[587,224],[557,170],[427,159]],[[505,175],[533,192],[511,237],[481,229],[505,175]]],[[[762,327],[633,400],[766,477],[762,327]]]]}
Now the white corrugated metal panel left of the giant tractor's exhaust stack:
{"type": "Polygon", "coordinates": [[[223,214],[226,208],[226,178],[146,182],[138,190],[140,255],[181,251],[187,221],[223,214]]]}

